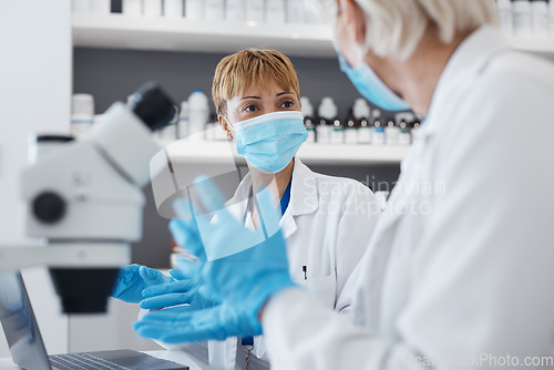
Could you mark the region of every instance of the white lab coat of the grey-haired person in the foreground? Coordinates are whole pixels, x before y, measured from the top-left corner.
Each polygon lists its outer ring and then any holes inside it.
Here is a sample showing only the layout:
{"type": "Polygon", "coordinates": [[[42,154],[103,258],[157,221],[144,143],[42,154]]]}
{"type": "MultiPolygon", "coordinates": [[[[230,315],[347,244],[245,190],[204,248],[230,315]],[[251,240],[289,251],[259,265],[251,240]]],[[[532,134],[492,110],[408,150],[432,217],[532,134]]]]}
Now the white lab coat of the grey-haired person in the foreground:
{"type": "Polygon", "coordinates": [[[263,317],[274,369],[548,361],[536,357],[554,356],[553,115],[551,63],[493,28],[471,34],[348,282],[353,323],[297,289],[277,295],[263,317]]]}

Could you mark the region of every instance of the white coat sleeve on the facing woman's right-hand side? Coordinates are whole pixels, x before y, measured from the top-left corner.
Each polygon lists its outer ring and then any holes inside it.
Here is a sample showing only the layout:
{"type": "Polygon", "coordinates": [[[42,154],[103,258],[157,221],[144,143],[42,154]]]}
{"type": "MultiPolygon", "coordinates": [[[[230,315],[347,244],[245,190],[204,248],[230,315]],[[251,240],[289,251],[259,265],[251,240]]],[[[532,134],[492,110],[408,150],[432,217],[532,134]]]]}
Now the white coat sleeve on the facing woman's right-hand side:
{"type": "Polygon", "coordinates": [[[342,216],[337,227],[335,244],[337,276],[335,310],[339,312],[349,311],[353,304],[357,289],[349,279],[369,246],[381,214],[379,202],[369,188],[353,181],[348,185],[346,187],[348,196],[342,204],[342,216]]]}

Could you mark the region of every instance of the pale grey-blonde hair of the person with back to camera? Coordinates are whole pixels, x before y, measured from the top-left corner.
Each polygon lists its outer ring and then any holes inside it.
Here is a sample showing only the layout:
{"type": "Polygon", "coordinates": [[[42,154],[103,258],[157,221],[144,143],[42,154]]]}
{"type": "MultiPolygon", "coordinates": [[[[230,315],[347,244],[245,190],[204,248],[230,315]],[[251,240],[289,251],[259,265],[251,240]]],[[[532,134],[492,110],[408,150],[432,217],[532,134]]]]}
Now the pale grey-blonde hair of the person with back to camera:
{"type": "Polygon", "coordinates": [[[499,24],[494,0],[356,0],[366,12],[366,45],[380,56],[408,59],[433,25],[445,44],[458,32],[499,24]]]}

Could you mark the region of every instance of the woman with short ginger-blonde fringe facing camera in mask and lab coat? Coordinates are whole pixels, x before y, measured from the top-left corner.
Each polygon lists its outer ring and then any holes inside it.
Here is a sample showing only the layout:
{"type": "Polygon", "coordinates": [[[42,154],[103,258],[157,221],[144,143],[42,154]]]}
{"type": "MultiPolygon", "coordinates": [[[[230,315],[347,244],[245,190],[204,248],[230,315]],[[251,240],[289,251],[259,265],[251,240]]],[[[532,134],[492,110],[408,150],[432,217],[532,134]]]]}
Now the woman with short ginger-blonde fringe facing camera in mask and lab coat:
{"type": "MultiPolygon", "coordinates": [[[[307,133],[293,63],[275,50],[242,50],[218,63],[212,93],[222,129],[249,169],[227,202],[227,209],[254,229],[259,217],[253,195],[268,184],[276,185],[275,203],[280,206],[279,224],[288,243],[290,276],[327,309],[348,312],[353,291],[347,280],[366,251],[380,206],[362,184],[314,173],[296,156],[307,133]]],[[[178,223],[172,222],[172,230],[178,229],[178,223]]],[[[187,243],[177,235],[175,239],[187,248],[187,243]]],[[[181,270],[173,273],[178,281],[165,285],[162,282],[166,278],[153,273],[156,279],[144,290],[147,298],[141,307],[157,309],[189,304],[179,308],[187,311],[208,306],[192,288],[198,278],[194,267],[182,261],[181,270]]],[[[146,268],[142,269],[146,276],[146,268]]],[[[131,275],[138,278],[134,271],[131,275]]],[[[146,288],[123,281],[117,287],[122,291],[146,288]]],[[[123,292],[114,296],[125,298],[123,292]]],[[[253,370],[269,368],[266,343],[260,336],[213,340],[207,346],[186,346],[186,349],[204,352],[211,369],[244,369],[246,363],[253,370]]]]}

